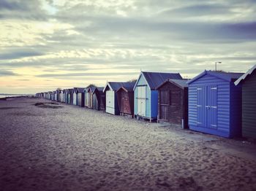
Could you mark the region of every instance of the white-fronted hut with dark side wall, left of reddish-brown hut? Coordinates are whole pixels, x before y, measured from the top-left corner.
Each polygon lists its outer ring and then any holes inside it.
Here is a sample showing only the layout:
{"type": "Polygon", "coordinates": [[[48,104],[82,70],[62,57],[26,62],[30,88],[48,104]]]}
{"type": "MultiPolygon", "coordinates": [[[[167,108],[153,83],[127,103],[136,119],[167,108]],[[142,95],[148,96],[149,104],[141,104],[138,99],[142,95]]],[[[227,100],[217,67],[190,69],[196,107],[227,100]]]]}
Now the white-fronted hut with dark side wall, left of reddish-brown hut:
{"type": "Polygon", "coordinates": [[[126,82],[108,82],[103,93],[106,96],[106,112],[109,114],[120,114],[116,91],[126,82]]]}

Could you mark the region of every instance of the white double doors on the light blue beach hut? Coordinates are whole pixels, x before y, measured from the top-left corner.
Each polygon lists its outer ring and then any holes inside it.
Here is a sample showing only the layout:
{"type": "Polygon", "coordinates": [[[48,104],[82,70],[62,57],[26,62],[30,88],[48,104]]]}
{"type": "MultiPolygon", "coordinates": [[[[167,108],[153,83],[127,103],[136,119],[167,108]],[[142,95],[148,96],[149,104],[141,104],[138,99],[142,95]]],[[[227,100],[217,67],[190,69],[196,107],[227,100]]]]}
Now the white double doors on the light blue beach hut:
{"type": "Polygon", "coordinates": [[[138,87],[138,115],[146,116],[146,86],[138,87]]]}

